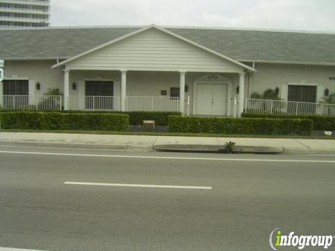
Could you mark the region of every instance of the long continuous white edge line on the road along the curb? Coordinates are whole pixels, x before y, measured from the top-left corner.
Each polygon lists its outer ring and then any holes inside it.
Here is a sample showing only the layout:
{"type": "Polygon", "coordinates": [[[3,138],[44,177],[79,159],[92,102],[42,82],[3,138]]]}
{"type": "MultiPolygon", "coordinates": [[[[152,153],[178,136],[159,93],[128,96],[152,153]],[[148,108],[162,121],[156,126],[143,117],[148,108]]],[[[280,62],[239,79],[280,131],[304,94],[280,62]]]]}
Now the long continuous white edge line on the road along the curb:
{"type": "Polygon", "coordinates": [[[255,162],[335,163],[335,160],[266,160],[266,159],[234,159],[234,158],[191,158],[191,157],[128,156],[128,155],[103,155],[103,154],[80,154],[80,153],[38,153],[38,152],[22,152],[22,151],[0,151],[0,153],[29,154],[29,155],[60,155],[60,156],[99,157],[99,158],[161,159],[161,160],[220,160],[220,161],[255,161],[255,162]]]}

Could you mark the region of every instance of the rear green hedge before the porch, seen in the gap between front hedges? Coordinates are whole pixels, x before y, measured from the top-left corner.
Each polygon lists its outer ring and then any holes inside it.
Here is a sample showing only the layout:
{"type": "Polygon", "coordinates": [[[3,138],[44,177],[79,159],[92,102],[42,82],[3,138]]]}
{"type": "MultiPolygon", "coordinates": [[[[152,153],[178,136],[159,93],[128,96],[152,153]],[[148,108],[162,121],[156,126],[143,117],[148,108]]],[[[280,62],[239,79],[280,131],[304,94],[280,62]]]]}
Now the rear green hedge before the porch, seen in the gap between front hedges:
{"type": "MultiPolygon", "coordinates": [[[[6,111],[11,112],[11,111],[6,111]]],[[[47,111],[46,111],[47,112],[47,111]]],[[[52,111],[47,113],[54,113],[52,111]]],[[[131,126],[142,126],[144,120],[156,121],[156,126],[168,126],[169,116],[180,116],[180,112],[83,112],[83,111],[60,111],[70,114],[128,114],[131,126]]]]}

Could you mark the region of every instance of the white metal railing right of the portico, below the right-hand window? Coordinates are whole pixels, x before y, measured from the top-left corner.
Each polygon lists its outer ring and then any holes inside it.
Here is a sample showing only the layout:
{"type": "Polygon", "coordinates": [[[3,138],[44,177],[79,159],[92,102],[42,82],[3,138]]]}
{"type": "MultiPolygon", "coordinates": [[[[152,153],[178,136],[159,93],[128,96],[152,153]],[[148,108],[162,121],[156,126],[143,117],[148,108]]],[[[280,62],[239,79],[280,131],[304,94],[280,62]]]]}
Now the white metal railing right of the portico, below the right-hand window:
{"type": "Polygon", "coordinates": [[[335,105],[283,100],[246,100],[246,113],[335,116],[335,105]]]}

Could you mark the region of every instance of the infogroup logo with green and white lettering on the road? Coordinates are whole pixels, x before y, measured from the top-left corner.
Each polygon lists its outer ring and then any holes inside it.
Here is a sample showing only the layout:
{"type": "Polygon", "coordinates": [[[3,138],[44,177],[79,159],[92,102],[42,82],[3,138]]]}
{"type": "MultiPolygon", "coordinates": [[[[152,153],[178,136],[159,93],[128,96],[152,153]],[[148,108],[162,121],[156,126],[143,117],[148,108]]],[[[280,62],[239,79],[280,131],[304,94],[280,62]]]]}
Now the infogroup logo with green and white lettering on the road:
{"type": "Polygon", "coordinates": [[[297,236],[294,231],[291,231],[288,235],[283,235],[283,231],[276,228],[271,231],[269,244],[275,251],[285,246],[297,247],[299,250],[306,247],[318,247],[327,250],[332,245],[334,238],[335,236],[297,236]]]}

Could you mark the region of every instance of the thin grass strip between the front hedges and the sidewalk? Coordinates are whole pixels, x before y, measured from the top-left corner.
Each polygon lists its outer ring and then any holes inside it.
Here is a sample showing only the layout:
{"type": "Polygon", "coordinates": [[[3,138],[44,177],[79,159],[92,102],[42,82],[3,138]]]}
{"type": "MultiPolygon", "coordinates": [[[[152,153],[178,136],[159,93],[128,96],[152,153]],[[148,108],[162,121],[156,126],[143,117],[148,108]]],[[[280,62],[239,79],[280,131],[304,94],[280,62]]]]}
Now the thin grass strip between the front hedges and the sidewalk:
{"type": "Polygon", "coordinates": [[[2,132],[52,132],[52,133],[80,133],[96,135],[144,135],[144,136],[181,136],[181,137],[246,137],[271,139],[335,139],[329,136],[296,136],[296,135],[223,135],[214,133],[175,133],[175,132],[106,132],[87,130],[1,130],[2,132]]]}

